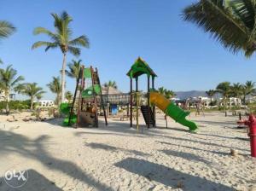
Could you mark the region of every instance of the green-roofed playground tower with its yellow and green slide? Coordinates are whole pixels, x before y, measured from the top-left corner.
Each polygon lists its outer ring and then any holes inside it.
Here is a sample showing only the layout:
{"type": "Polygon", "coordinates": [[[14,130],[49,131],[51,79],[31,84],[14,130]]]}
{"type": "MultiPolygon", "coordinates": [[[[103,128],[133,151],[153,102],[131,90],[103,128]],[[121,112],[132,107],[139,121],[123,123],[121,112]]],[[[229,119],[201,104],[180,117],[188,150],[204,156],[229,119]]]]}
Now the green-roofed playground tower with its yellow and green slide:
{"type": "Polygon", "coordinates": [[[148,66],[148,64],[143,61],[142,58],[138,57],[137,61],[131,66],[129,72],[127,72],[127,76],[130,78],[130,126],[132,127],[132,106],[133,106],[133,97],[136,97],[136,110],[137,110],[137,130],[139,129],[138,124],[138,98],[139,98],[139,91],[138,91],[138,78],[146,74],[148,77],[148,101],[147,106],[140,106],[141,111],[143,113],[143,118],[145,123],[150,128],[150,124],[155,126],[155,106],[159,107],[166,115],[174,119],[177,123],[183,124],[184,126],[189,127],[190,131],[195,131],[197,129],[197,125],[193,121],[189,121],[186,117],[189,115],[189,112],[183,111],[180,107],[177,107],[175,103],[166,99],[165,96],[160,95],[159,93],[154,91],[154,78],[157,75],[154,71],[148,66]],[[150,89],[150,77],[152,78],[152,88],[150,89]],[[136,91],[133,92],[132,90],[132,79],[135,78],[136,80],[136,91]],[[150,107],[150,105],[152,107],[150,107]]]}

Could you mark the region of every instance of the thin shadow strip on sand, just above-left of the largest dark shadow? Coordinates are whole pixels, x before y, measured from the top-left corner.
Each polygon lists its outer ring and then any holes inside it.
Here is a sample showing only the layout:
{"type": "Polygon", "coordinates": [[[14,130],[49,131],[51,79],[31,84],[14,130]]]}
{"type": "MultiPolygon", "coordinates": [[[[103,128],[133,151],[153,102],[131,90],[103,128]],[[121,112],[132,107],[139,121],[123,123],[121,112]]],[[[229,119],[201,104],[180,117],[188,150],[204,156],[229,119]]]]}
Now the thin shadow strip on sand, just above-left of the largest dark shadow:
{"type": "Polygon", "coordinates": [[[95,142],[91,142],[86,144],[87,147],[93,148],[93,149],[102,149],[102,150],[106,150],[106,151],[112,151],[112,152],[125,152],[125,153],[133,153],[135,155],[139,155],[139,156],[149,156],[148,153],[143,153],[140,151],[136,151],[136,150],[130,150],[130,149],[125,149],[125,148],[116,148],[107,144],[102,144],[102,143],[95,143],[95,142]]]}

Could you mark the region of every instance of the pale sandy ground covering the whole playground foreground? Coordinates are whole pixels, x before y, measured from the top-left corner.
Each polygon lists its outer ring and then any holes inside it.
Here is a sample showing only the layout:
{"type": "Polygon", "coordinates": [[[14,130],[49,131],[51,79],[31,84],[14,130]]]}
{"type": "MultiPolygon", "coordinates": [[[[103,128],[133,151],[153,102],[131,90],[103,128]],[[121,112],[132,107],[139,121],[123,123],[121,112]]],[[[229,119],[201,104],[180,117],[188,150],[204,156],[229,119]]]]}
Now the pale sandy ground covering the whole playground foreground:
{"type": "MultiPolygon", "coordinates": [[[[223,113],[191,116],[198,134],[168,119],[169,129],[143,133],[129,121],[109,119],[99,129],[62,128],[50,122],[0,121],[0,177],[27,170],[19,190],[253,190],[256,159],[246,130],[223,113]],[[230,156],[230,148],[240,155],[230,156]]],[[[141,124],[143,119],[140,119],[141,124]]],[[[165,127],[163,115],[158,126],[165,127]]],[[[0,179],[0,190],[10,188],[0,179]]]]}

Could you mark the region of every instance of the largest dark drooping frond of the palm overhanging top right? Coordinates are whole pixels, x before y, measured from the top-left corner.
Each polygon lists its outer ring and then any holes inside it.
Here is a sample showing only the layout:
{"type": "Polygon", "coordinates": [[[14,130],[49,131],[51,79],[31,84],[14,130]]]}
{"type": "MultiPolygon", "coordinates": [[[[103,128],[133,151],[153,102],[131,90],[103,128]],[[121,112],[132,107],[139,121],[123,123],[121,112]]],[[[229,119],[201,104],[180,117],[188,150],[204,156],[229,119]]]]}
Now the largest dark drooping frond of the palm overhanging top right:
{"type": "Polygon", "coordinates": [[[224,0],[201,0],[183,10],[183,20],[195,23],[212,38],[220,42],[224,48],[236,53],[248,46],[248,28],[242,20],[233,15],[232,7],[226,7],[224,0]]]}

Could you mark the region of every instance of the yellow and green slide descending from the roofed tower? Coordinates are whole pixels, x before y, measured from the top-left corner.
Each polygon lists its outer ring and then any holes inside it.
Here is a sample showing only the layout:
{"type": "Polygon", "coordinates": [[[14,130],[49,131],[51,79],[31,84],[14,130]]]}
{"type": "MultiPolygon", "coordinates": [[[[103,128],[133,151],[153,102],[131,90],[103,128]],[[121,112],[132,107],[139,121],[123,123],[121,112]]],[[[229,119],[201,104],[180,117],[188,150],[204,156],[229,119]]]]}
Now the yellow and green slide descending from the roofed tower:
{"type": "Polygon", "coordinates": [[[183,111],[183,109],[177,107],[172,101],[166,99],[165,96],[162,96],[157,92],[151,92],[150,103],[154,104],[156,107],[159,107],[160,110],[174,119],[177,123],[189,127],[190,131],[195,131],[197,129],[197,125],[193,121],[186,119],[189,112],[183,111]]]}

